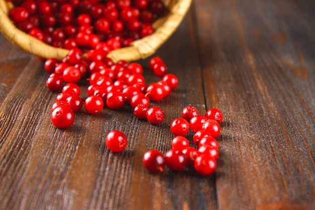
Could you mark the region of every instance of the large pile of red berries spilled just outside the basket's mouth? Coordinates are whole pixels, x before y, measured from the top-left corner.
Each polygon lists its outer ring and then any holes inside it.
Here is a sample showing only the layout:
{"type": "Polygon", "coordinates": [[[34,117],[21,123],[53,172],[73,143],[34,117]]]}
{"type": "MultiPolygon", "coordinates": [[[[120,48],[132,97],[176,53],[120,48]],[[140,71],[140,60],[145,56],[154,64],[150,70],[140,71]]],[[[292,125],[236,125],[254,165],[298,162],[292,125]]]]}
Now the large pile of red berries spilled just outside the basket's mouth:
{"type": "MultiPolygon", "coordinates": [[[[146,86],[142,76],[143,68],[139,63],[129,63],[125,60],[114,63],[110,58],[103,57],[101,53],[95,53],[94,50],[90,50],[84,58],[80,49],[70,49],[61,62],[55,58],[49,58],[44,66],[50,74],[46,81],[47,88],[51,91],[59,91],[62,88],[62,93],[57,96],[57,102],[70,100],[69,97],[72,97],[71,103],[73,103],[72,100],[78,102],[80,88],[75,83],[86,78],[87,75],[90,76],[87,79],[90,83],[87,90],[89,97],[84,103],[80,99],[81,103],[78,103],[76,107],[71,107],[73,112],[79,111],[82,104],[89,114],[101,112],[104,106],[120,109],[125,104],[129,104],[135,117],[146,118],[152,124],[160,124],[164,120],[164,112],[159,107],[149,107],[150,101],[162,100],[169,96],[178,85],[177,77],[166,74],[164,71],[163,74],[159,74],[163,77],[161,81],[146,86]],[[67,85],[63,87],[64,82],[67,85]]],[[[160,69],[156,66],[164,66],[163,69],[167,69],[160,57],[151,58],[149,66],[153,72],[160,69]]],[[[58,102],[54,106],[59,105],[64,106],[65,103],[58,102]]],[[[71,106],[74,105],[71,104],[71,106]]],[[[62,119],[62,113],[58,112],[58,117],[62,119]]],[[[60,125],[55,122],[55,118],[56,114],[53,112],[51,119],[59,128],[66,128],[73,122],[72,120],[70,123],[71,120],[68,120],[68,123],[60,125]]]]}

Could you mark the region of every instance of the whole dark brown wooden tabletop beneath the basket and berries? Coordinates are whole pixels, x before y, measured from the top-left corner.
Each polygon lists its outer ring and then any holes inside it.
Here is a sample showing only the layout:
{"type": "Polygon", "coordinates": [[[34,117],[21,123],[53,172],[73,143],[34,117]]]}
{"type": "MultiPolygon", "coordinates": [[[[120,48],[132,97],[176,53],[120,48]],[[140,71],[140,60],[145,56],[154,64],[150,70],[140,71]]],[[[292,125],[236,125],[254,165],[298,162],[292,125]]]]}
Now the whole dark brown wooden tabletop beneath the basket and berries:
{"type": "Polygon", "coordinates": [[[315,209],[315,1],[195,0],[155,54],[179,78],[151,104],[160,125],[126,106],[57,129],[43,63],[2,35],[0,47],[0,209],[315,209]],[[148,173],[144,152],[171,149],[187,105],[224,115],[215,173],[148,173]],[[120,154],[105,145],[113,129],[128,136],[120,154]]]}

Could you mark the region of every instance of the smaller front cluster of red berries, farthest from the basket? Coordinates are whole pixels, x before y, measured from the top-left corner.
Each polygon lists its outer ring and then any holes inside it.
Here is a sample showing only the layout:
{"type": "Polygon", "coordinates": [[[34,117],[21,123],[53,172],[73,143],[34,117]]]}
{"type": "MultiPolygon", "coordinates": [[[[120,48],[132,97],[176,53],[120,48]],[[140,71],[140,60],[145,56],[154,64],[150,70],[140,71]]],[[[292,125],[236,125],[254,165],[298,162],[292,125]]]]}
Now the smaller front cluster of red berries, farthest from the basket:
{"type": "Polygon", "coordinates": [[[187,166],[193,166],[202,176],[212,174],[219,156],[219,145],[215,138],[220,133],[220,122],[222,113],[216,108],[209,109],[203,116],[199,115],[195,107],[185,107],[182,117],[171,123],[171,131],[175,135],[172,139],[172,149],[165,155],[157,150],[147,151],[142,159],[144,167],[152,173],[159,173],[163,172],[165,166],[172,171],[182,171],[187,166]],[[193,141],[198,149],[189,147],[190,143],[184,137],[189,128],[195,132],[193,141]]]}

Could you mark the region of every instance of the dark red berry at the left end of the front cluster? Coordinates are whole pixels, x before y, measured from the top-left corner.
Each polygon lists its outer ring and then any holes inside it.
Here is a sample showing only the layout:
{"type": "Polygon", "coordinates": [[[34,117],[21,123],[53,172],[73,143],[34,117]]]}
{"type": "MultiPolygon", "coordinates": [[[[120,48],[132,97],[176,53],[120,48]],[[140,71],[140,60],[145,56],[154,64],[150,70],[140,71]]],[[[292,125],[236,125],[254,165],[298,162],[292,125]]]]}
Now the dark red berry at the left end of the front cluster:
{"type": "Polygon", "coordinates": [[[149,150],[144,153],[142,163],[144,167],[151,173],[163,172],[165,168],[164,155],[157,150],[149,150]]]}

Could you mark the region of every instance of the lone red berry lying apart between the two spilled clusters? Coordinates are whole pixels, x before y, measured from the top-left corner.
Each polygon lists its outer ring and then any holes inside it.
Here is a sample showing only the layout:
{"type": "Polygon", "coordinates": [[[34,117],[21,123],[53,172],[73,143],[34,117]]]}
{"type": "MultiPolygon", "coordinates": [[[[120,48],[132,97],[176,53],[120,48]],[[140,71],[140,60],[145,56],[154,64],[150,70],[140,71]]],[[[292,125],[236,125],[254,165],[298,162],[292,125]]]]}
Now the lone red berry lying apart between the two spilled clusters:
{"type": "Polygon", "coordinates": [[[119,131],[113,130],[109,132],[105,138],[106,146],[114,153],[120,153],[127,147],[127,136],[119,131]]]}

